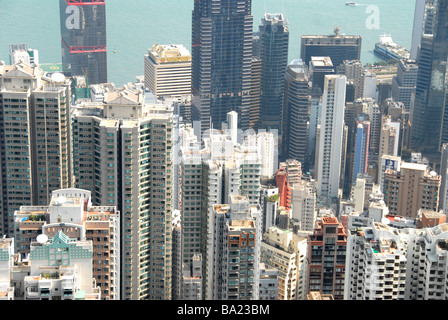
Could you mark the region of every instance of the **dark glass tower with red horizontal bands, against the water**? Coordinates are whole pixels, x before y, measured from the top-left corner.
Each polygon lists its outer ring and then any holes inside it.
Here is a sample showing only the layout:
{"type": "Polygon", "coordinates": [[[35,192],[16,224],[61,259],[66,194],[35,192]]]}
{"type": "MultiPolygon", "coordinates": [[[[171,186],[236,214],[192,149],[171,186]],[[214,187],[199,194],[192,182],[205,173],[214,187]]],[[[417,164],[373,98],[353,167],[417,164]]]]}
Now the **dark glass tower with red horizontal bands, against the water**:
{"type": "Polygon", "coordinates": [[[107,82],[106,1],[60,0],[64,73],[107,82]]]}

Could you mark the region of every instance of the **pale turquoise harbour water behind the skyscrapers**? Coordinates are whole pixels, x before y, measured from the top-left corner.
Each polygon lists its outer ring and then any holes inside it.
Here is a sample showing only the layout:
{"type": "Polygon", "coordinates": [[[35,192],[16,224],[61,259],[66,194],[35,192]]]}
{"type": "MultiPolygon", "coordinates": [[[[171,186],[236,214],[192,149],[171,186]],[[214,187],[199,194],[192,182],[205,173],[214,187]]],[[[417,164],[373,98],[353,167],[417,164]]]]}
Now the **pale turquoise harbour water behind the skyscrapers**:
{"type": "MultiPolygon", "coordinates": [[[[363,63],[382,34],[410,49],[414,0],[252,0],[254,30],[265,12],[284,13],[290,28],[290,60],[300,56],[305,34],[341,33],[362,36],[363,63]]],[[[143,56],[153,44],[191,47],[193,0],[108,0],[109,81],[120,86],[143,74],[143,56]]],[[[9,62],[8,46],[26,43],[39,50],[41,63],[61,60],[58,0],[0,0],[0,60],[9,62]]]]}

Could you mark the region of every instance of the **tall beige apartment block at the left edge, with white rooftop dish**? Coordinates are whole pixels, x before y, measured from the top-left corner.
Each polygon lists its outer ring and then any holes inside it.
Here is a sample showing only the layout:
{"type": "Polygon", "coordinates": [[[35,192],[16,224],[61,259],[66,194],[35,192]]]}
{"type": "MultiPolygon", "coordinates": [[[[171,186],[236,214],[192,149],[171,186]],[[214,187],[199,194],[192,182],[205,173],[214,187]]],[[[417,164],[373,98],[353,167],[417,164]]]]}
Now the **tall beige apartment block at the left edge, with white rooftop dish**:
{"type": "Polygon", "coordinates": [[[12,235],[15,210],[46,205],[53,190],[72,186],[70,80],[0,64],[0,88],[0,234],[12,235]]]}

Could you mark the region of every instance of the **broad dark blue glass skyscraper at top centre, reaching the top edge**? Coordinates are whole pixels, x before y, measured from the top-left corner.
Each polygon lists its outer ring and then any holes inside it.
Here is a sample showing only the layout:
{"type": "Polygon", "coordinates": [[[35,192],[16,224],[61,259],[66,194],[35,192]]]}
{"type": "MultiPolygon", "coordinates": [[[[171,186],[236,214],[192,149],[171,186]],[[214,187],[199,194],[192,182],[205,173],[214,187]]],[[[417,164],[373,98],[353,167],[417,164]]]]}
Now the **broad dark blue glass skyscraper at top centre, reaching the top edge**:
{"type": "Polygon", "coordinates": [[[230,111],[248,129],[252,69],[251,0],[196,0],[192,21],[192,115],[202,131],[230,111]]]}

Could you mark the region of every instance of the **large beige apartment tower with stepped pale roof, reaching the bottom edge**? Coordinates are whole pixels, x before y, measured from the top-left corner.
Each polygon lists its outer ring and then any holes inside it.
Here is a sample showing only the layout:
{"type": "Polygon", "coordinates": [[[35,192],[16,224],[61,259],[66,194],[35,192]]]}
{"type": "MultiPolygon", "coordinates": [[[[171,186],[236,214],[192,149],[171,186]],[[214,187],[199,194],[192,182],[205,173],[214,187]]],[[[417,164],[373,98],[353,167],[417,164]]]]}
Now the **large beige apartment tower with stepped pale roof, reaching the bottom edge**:
{"type": "Polygon", "coordinates": [[[126,85],[73,112],[76,186],[121,212],[122,300],[170,300],[173,108],[126,85]]]}

